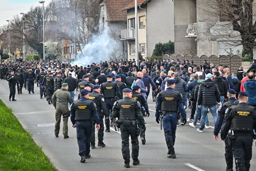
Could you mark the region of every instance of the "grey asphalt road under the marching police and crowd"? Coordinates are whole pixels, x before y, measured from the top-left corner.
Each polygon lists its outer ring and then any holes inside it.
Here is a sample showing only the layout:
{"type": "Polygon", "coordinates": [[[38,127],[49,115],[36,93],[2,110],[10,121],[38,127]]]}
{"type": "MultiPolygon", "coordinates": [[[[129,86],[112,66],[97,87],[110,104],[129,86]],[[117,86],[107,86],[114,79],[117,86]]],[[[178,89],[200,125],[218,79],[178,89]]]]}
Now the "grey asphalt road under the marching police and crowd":
{"type": "MultiPolygon", "coordinates": [[[[53,165],[61,171],[78,170],[178,170],[178,171],[216,171],[225,170],[225,145],[223,141],[213,139],[213,129],[204,129],[203,133],[197,132],[188,123],[177,127],[175,152],[176,159],[167,158],[167,147],[164,138],[164,131],[160,130],[159,124],[155,121],[155,102],[152,97],[148,98],[150,116],[145,117],[146,145],[142,145],[139,139],[139,159],[140,164],[130,168],[124,167],[124,160],[121,153],[120,132],[104,132],[104,143],[106,147],[91,149],[92,157],[86,159],[85,163],[80,163],[78,155],[78,145],[76,141],[76,129],[72,128],[72,123],[68,121],[68,139],[63,138],[60,129],[59,138],[54,136],[55,109],[49,105],[45,98],[40,99],[39,87],[35,86],[35,94],[28,94],[23,88],[23,94],[18,95],[17,101],[9,101],[9,88],[5,80],[0,80],[0,99],[13,108],[14,115],[19,119],[23,127],[33,134],[35,142],[43,146],[43,151],[49,157],[53,165]],[[47,125],[40,125],[47,124],[47,125]]],[[[17,91],[17,90],[16,90],[17,91]]],[[[75,96],[75,99],[77,95],[75,96]]],[[[190,109],[187,109],[190,115],[190,109]]],[[[210,126],[213,125],[212,115],[209,115],[210,126]]],[[[10,123],[11,124],[11,123],[10,123]]],[[[62,121],[60,123],[62,128],[62,121]]],[[[198,126],[197,126],[198,128],[198,126]]],[[[96,145],[97,145],[96,133],[96,145]]],[[[256,148],[252,146],[253,154],[251,160],[251,170],[256,168],[256,148]]],[[[130,143],[131,151],[131,143],[130,143]]],[[[234,166],[235,169],[235,166],[234,166]]]]}

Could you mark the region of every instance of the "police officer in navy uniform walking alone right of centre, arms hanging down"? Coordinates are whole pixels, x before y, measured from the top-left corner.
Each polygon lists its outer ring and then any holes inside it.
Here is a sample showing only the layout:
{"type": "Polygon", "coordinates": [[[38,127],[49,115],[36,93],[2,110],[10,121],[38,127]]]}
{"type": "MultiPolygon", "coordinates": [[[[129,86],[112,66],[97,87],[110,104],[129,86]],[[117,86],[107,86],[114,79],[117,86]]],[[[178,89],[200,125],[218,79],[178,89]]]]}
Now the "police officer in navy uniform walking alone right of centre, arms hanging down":
{"type": "Polygon", "coordinates": [[[162,112],[163,117],[163,127],[165,141],[168,147],[168,158],[176,158],[174,151],[175,134],[178,121],[178,110],[184,119],[183,124],[187,123],[187,114],[182,103],[182,96],[180,92],[174,91],[175,80],[169,79],[166,82],[167,89],[159,93],[157,104],[156,104],[156,122],[160,121],[160,112],[162,112]]]}

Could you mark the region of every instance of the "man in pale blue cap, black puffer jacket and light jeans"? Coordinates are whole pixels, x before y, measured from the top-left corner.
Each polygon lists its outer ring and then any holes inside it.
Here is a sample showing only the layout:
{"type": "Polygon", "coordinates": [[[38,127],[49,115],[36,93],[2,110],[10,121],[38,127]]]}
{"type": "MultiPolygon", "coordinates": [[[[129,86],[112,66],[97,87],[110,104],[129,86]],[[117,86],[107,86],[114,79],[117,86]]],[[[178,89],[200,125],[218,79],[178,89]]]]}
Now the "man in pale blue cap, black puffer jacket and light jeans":
{"type": "Polygon", "coordinates": [[[198,88],[198,107],[202,106],[202,117],[200,120],[198,132],[204,132],[204,124],[205,124],[205,117],[207,115],[208,108],[212,113],[213,122],[215,124],[217,120],[217,113],[216,113],[216,101],[217,104],[220,105],[220,91],[218,85],[212,82],[213,76],[211,73],[206,75],[206,81],[202,82],[198,88]]]}

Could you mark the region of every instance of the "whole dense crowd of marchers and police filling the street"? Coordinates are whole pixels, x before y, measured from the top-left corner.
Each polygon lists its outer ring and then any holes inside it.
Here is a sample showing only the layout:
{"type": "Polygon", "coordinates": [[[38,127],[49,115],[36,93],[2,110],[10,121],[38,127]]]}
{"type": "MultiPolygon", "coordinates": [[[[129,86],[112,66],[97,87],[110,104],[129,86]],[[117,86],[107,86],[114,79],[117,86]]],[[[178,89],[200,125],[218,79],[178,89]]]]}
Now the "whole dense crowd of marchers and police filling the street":
{"type": "Polygon", "coordinates": [[[69,61],[60,60],[16,61],[1,64],[0,73],[1,79],[9,83],[10,101],[11,98],[16,101],[16,86],[18,94],[22,94],[23,87],[29,94],[34,93],[35,84],[40,88],[40,99],[44,96],[48,104],[56,108],[56,137],[62,116],[63,135],[68,138],[70,116],[73,127],[78,130],[81,162],[90,158],[90,148],[95,148],[95,124],[98,146],[106,146],[103,143],[105,117],[105,132],[110,132],[110,126],[121,130],[124,167],[130,167],[129,136],[133,165],[139,164],[138,136],[142,144],[146,144],[143,116],[150,115],[148,96],[151,92],[156,102],[156,122],[164,127],[168,158],[176,158],[176,127],[189,122],[196,128],[199,122],[197,131],[204,132],[204,128],[210,128],[210,111],[215,125],[214,139],[217,140],[221,130],[221,139],[225,141],[226,170],[233,170],[233,156],[236,170],[250,169],[256,128],[255,59],[247,71],[241,66],[233,73],[227,65],[214,65],[207,60],[203,65],[196,65],[179,59],[155,59],[154,62],[143,59],[138,65],[135,59],[121,59],[87,66],[72,66],[69,61]],[[187,108],[190,109],[188,117],[187,108]]]}

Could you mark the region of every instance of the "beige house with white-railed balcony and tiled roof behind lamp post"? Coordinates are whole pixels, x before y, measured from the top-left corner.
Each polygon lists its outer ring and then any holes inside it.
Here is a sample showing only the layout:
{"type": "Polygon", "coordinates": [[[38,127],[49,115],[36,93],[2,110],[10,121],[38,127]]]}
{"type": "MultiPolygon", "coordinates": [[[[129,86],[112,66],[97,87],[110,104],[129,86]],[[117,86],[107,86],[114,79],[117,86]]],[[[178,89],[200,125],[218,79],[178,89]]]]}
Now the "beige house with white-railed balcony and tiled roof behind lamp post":
{"type": "MultiPolygon", "coordinates": [[[[152,56],[156,43],[174,41],[174,4],[172,0],[138,0],[138,42],[143,58],[152,56]]],[[[121,31],[121,40],[128,41],[128,58],[135,58],[134,0],[127,10],[127,29],[121,31]]]]}

